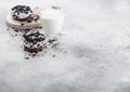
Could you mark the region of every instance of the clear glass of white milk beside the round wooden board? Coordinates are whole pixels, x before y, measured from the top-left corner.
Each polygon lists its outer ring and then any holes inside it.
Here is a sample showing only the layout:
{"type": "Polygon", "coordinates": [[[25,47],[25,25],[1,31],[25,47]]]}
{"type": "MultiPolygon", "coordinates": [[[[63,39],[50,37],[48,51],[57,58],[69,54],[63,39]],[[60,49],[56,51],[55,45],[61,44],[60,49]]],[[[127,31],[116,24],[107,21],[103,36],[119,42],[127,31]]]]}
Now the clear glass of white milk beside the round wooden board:
{"type": "Polygon", "coordinates": [[[64,14],[58,6],[41,12],[41,25],[47,35],[60,34],[64,23],[64,14]]]}

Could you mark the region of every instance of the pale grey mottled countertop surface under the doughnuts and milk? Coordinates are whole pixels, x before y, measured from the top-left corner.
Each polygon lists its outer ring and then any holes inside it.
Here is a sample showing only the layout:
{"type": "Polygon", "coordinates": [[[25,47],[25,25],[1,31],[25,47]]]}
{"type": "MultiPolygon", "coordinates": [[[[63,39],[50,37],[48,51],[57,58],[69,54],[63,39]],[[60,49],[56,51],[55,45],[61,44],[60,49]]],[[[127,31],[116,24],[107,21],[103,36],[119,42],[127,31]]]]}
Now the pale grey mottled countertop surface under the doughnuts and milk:
{"type": "Polygon", "coordinates": [[[0,92],[130,92],[130,1],[1,0],[0,92]],[[5,26],[9,9],[20,3],[62,6],[66,54],[24,60],[21,39],[5,26]]]}

